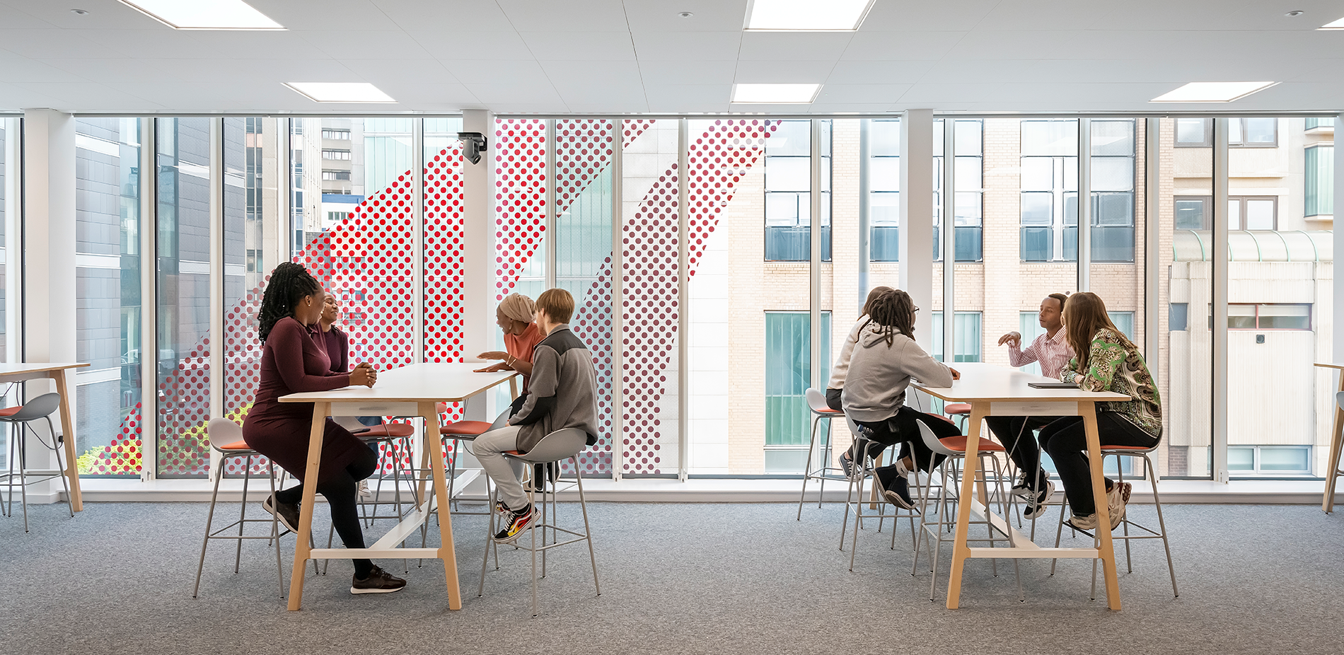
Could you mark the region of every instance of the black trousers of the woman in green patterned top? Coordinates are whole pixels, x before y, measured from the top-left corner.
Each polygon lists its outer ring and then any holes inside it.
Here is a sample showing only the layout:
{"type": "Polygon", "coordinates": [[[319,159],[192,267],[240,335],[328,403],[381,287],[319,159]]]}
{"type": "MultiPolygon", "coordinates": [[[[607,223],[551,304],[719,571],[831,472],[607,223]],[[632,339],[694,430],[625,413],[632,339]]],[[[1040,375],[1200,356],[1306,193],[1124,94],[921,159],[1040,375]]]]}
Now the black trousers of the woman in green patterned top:
{"type": "MultiPolygon", "coordinates": [[[[1097,434],[1101,445],[1138,445],[1152,448],[1157,437],[1141,430],[1114,412],[1097,412],[1097,434]]],[[[1091,469],[1087,468],[1087,437],[1083,417],[1067,416],[1040,429],[1040,447],[1055,460],[1059,480],[1064,483],[1064,496],[1075,516],[1097,512],[1093,503],[1091,469]]],[[[1106,480],[1106,487],[1111,486],[1106,480]]]]}

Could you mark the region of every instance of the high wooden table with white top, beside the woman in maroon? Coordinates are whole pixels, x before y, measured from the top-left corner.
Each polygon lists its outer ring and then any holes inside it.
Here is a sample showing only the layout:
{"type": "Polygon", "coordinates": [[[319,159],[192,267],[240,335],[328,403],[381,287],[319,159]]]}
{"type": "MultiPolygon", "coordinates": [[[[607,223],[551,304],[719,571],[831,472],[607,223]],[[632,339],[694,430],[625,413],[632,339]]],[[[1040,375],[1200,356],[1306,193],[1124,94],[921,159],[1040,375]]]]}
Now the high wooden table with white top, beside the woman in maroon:
{"type": "Polygon", "coordinates": [[[462,608],[457,584],[457,555],[453,551],[453,516],[438,512],[439,547],[398,547],[425,523],[431,508],[448,507],[448,480],[444,476],[444,441],[438,433],[438,402],[461,402],[504,382],[516,383],[517,371],[472,373],[481,363],[411,364],[380,373],[372,389],[348,386],[332,391],[289,394],[280,402],[312,402],[313,429],[308,441],[308,471],[304,475],[304,499],[298,512],[298,534],[313,527],[313,504],[317,495],[317,469],[323,457],[323,433],[329,416],[418,416],[425,420],[421,441],[421,468],[434,479],[434,495],[426,498],[425,480],[419,484],[421,504],[405,515],[391,531],[366,549],[314,549],[308,539],[294,543],[294,568],[289,578],[289,609],[297,611],[304,597],[304,568],[308,560],[352,558],[438,558],[448,578],[448,608],[462,608]]]}

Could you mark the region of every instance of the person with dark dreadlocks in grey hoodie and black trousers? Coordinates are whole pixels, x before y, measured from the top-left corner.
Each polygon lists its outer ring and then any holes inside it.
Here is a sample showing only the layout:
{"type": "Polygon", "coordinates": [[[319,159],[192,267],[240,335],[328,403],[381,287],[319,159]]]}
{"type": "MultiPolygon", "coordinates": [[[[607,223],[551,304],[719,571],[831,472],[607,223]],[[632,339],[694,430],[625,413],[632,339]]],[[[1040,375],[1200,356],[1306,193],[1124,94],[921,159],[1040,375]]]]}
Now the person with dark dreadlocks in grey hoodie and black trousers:
{"type": "MultiPolygon", "coordinates": [[[[887,502],[906,510],[915,506],[906,473],[915,467],[933,471],[942,461],[923,444],[915,421],[923,421],[939,438],[961,433],[941,416],[906,406],[906,387],[911,379],[952,386],[952,381],[961,377],[915,343],[917,311],[910,295],[900,289],[887,291],[868,303],[868,320],[859,331],[841,393],[845,416],[870,440],[864,456],[876,457],[888,445],[905,444],[895,464],[879,468],[876,479],[887,502]]],[[[840,456],[845,473],[853,471],[856,455],[851,445],[840,456]]]]}

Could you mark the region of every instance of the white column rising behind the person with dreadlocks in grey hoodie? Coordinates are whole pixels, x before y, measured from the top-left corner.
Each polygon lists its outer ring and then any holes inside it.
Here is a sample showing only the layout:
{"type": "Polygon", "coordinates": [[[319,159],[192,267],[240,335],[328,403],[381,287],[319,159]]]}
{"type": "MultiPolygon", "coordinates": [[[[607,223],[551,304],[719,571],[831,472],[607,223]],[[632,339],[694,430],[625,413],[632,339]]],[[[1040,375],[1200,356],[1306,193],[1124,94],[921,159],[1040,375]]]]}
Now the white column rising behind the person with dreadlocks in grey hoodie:
{"type": "MultiPolygon", "coordinates": [[[[922,311],[915,342],[933,347],[933,109],[900,116],[900,288],[922,311]]],[[[867,291],[866,291],[867,292],[867,291]]]]}

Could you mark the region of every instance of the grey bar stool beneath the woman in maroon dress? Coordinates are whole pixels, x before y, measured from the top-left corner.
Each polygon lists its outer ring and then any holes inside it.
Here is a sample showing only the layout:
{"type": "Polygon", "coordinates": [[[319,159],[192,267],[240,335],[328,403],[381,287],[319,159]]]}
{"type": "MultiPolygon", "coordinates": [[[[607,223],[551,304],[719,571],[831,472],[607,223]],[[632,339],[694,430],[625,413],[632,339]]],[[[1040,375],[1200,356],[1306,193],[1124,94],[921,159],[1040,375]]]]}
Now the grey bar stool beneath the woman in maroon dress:
{"type": "MultiPolygon", "coordinates": [[[[200,543],[200,562],[196,565],[196,585],[191,589],[191,597],[195,599],[196,593],[200,592],[200,573],[206,568],[206,547],[210,546],[212,539],[233,539],[238,542],[238,549],[234,553],[234,573],[238,573],[239,564],[242,562],[243,541],[266,539],[267,546],[271,542],[276,545],[276,574],[280,581],[280,597],[284,599],[285,569],[280,561],[280,535],[282,534],[280,531],[280,521],[274,515],[266,519],[247,518],[247,481],[251,477],[247,473],[251,472],[253,457],[261,457],[262,455],[247,447],[247,442],[243,441],[243,429],[227,418],[212,418],[207,428],[207,434],[210,434],[210,448],[219,453],[219,468],[215,471],[215,490],[210,494],[210,512],[206,515],[206,538],[200,543]],[[238,511],[238,521],[215,530],[215,503],[219,499],[219,480],[224,479],[224,468],[231,459],[245,460],[242,508],[238,511]],[[270,533],[258,535],[243,534],[247,523],[270,523],[270,533]],[[238,534],[222,534],[224,530],[231,530],[233,527],[238,527],[238,534]]],[[[270,460],[266,460],[266,472],[270,479],[270,492],[276,494],[276,464],[270,460]]]]}

